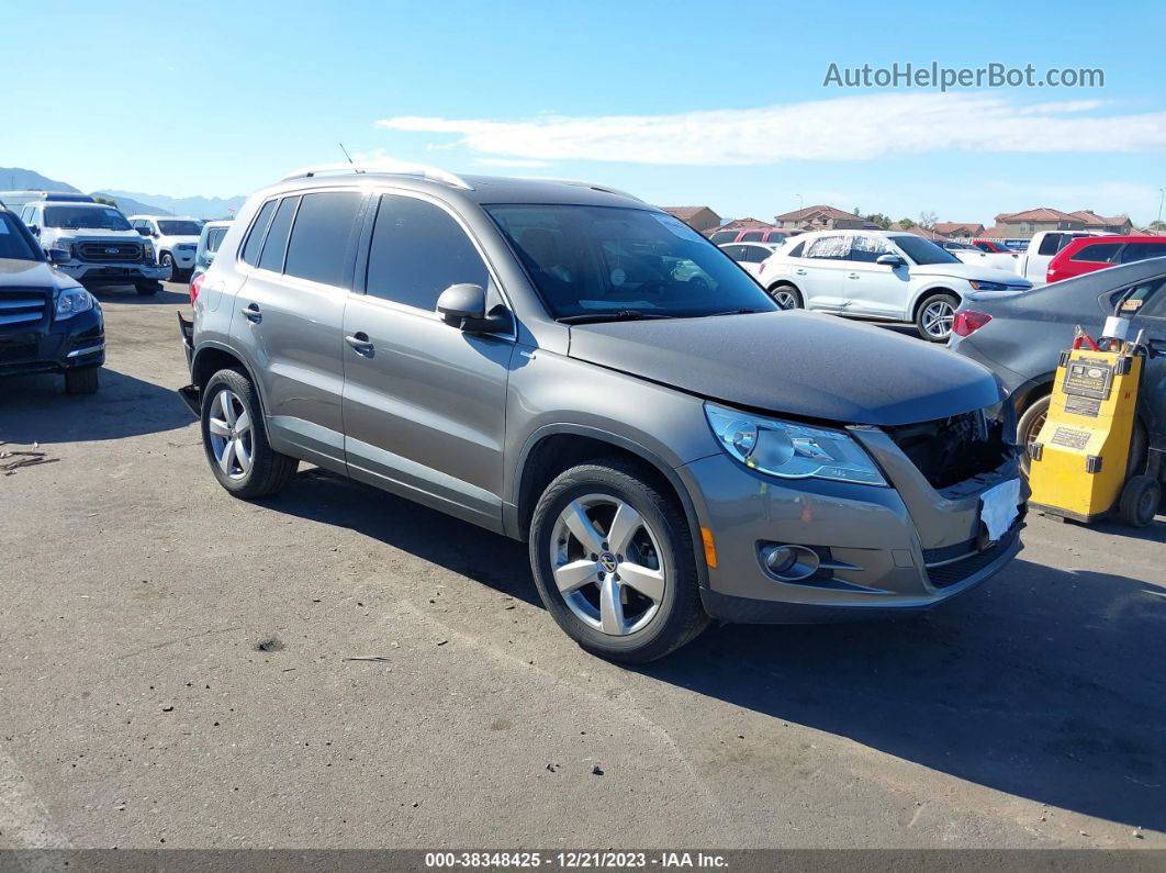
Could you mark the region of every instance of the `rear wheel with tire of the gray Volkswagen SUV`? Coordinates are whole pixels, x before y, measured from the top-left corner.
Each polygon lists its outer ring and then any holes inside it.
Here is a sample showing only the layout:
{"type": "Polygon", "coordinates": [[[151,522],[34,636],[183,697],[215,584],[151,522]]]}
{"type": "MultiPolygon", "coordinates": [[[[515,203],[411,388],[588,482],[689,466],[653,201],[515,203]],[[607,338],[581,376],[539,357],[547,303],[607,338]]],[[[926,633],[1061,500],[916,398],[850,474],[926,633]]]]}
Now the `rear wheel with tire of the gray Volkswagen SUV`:
{"type": "Polygon", "coordinates": [[[267,442],[259,394],[237,369],[220,369],[206,382],[201,423],[211,472],[240,500],[276,493],[298,466],[267,442]]]}

